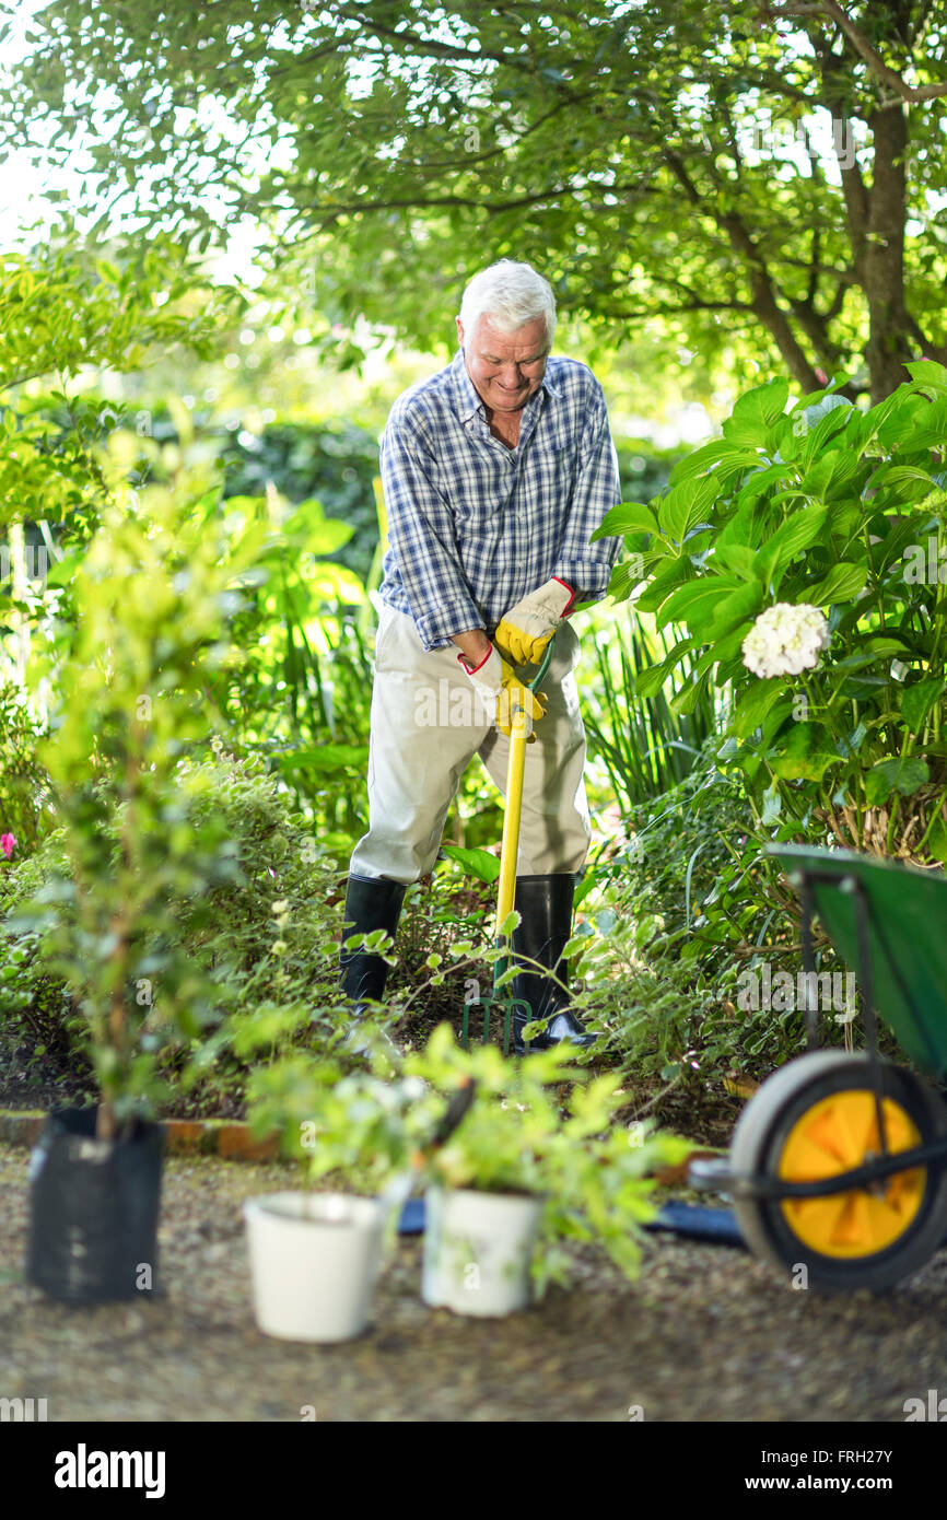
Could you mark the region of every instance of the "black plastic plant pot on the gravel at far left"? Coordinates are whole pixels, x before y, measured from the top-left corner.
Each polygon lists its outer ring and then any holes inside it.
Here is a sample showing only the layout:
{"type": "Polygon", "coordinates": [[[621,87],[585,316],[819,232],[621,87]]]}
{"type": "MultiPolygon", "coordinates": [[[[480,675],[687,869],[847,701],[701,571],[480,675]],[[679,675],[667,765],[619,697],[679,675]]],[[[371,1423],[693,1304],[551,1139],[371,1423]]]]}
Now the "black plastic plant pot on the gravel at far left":
{"type": "Polygon", "coordinates": [[[67,1304],[158,1292],[163,1151],[158,1125],[96,1140],[94,1108],[53,1110],[30,1160],[29,1281],[67,1304]]]}

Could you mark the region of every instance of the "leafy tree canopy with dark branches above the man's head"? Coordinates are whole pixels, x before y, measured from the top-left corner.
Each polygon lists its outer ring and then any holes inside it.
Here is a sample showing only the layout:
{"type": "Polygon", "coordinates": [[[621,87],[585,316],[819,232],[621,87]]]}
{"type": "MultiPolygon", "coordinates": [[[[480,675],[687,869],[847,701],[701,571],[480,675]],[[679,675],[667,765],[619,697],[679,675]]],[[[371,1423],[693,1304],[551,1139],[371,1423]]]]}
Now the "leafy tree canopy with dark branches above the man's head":
{"type": "Polygon", "coordinates": [[[8,143],[81,131],[103,228],[260,219],[322,312],[442,342],[517,257],[610,339],[742,333],[809,391],[947,360],[942,0],[56,0],[29,35],[8,143]]]}

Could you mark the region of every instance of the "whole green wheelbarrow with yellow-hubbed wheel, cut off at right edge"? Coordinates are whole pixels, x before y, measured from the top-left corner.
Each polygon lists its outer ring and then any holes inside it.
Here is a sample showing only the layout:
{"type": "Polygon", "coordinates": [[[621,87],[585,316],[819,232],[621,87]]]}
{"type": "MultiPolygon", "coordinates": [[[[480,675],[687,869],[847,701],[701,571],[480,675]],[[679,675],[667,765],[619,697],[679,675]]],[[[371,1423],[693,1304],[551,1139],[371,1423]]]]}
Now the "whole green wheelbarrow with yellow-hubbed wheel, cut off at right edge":
{"type": "Polygon", "coordinates": [[[749,1249],[798,1286],[886,1289],[947,1236],[947,1105],[932,1085],[947,1069],[947,880],[850,850],[768,853],[801,898],[809,1049],[749,1099],[728,1157],[692,1161],[689,1178],[728,1195],[749,1249]],[[857,967],[857,1053],[816,1049],[816,915],[857,967]],[[880,1056],[877,1017],[932,1081],[880,1056]]]}

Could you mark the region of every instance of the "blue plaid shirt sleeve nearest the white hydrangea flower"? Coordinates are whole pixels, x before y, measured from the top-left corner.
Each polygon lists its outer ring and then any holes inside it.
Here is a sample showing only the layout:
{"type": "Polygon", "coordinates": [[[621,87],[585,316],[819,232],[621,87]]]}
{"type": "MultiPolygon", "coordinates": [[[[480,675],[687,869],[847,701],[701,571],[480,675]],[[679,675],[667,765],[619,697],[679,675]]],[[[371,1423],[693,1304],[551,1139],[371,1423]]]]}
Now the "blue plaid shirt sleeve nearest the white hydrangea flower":
{"type": "Polygon", "coordinates": [[[569,521],[553,570],[553,576],[573,588],[576,602],[600,602],[608,593],[611,567],[622,552],[623,540],[602,538],[594,544],[588,540],[620,500],[619,456],[608,427],[605,397],[599,382],[593,378],[569,521]]]}

